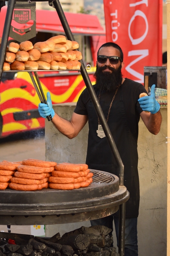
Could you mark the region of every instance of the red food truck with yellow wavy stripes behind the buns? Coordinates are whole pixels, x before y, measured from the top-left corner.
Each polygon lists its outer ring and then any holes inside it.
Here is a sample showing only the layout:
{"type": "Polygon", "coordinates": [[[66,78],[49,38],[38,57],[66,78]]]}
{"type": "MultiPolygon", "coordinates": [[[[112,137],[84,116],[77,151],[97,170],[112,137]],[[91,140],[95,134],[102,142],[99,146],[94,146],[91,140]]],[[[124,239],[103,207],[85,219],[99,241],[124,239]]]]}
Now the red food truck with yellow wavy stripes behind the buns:
{"type": "MultiPolygon", "coordinates": [[[[105,31],[95,15],[65,13],[75,41],[79,44],[85,66],[92,84],[97,50],[106,42],[105,31]]],[[[0,12],[0,36],[3,35],[6,7],[0,12]]],[[[23,24],[24,25],[24,24],[23,24]]],[[[24,26],[28,26],[26,23],[24,26]]],[[[46,41],[55,35],[65,35],[57,12],[36,10],[36,37],[33,44],[46,41]]],[[[9,38],[9,42],[12,38],[9,38]]],[[[37,72],[43,92],[51,93],[52,103],[77,102],[85,88],[80,72],[39,71],[37,72]]],[[[38,113],[40,99],[27,72],[3,72],[0,83],[0,137],[44,128],[45,120],[38,113]]]]}

